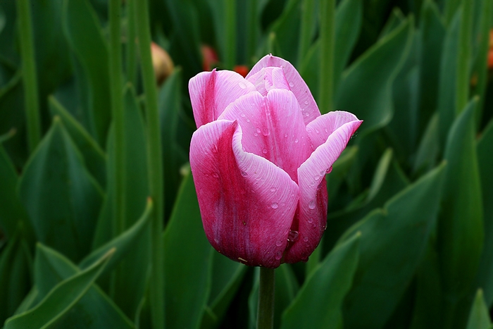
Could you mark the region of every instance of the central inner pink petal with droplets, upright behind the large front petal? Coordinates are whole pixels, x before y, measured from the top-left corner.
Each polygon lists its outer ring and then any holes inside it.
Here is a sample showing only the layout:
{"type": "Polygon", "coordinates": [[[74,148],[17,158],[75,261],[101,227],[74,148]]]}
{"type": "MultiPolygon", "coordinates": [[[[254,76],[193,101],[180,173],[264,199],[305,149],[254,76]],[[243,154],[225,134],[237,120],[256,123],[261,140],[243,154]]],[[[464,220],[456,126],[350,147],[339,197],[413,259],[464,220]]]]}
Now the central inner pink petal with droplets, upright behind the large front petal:
{"type": "Polygon", "coordinates": [[[220,119],[237,120],[245,151],[268,159],[298,181],[298,167],[310,156],[311,145],[292,92],[272,89],[267,97],[252,92],[230,104],[220,119]]]}

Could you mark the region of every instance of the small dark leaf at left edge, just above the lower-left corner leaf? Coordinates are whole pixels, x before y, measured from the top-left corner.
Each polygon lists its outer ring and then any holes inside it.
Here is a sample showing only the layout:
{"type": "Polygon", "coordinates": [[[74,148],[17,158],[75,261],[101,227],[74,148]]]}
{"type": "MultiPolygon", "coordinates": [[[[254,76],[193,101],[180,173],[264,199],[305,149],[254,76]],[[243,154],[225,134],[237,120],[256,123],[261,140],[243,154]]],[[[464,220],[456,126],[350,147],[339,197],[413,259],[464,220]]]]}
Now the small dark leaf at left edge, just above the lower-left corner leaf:
{"type": "Polygon", "coordinates": [[[29,291],[30,257],[27,245],[19,235],[13,235],[0,253],[0,323],[14,314],[29,291]]]}

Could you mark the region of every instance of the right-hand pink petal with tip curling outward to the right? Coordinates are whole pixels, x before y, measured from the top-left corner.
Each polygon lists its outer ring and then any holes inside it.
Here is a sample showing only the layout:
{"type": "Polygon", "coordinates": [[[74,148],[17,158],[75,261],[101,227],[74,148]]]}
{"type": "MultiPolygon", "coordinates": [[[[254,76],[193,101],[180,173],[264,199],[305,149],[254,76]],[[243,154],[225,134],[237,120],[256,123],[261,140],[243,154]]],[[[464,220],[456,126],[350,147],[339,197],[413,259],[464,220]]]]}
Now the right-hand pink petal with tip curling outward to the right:
{"type": "MultiPolygon", "coordinates": [[[[298,239],[285,254],[286,263],[306,261],[318,246],[327,225],[327,186],[325,173],[346,148],[360,120],[344,123],[320,145],[298,169],[298,239]]],[[[296,221],[296,219],[295,219],[296,221]]],[[[295,225],[296,223],[294,223],[295,225]]],[[[292,228],[293,229],[293,228],[292,228]]],[[[294,227],[294,229],[296,229],[294,227]]]]}

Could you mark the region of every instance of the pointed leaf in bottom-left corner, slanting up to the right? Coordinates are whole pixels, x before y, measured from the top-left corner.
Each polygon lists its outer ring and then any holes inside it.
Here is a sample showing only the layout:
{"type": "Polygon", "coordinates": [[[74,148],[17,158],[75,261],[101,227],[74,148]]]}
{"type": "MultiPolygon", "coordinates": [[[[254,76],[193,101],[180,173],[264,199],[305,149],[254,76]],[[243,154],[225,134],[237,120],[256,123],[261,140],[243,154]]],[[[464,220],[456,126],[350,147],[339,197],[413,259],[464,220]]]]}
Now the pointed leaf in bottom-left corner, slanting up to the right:
{"type": "Polygon", "coordinates": [[[101,274],[112,253],[113,250],[87,270],[56,285],[35,308],[9,318],[4,328],[48,328],[54,325],[85,295],[94,280],[101,274]]]}

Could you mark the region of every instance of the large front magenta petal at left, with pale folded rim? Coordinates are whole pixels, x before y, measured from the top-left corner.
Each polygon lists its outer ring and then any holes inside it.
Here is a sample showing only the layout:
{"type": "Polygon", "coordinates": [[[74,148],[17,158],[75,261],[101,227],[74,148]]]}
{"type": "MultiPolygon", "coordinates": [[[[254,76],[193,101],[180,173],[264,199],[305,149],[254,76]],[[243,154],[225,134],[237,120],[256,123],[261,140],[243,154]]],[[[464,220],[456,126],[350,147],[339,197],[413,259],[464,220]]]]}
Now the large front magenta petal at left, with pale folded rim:
{"type": "Polygon", "coordinates": [[[236,121],[216,120],[192,136],[190,166],[206,236],[221,254],[276,268],[298,204],[284,170],[242,150],[236,121]]]}

